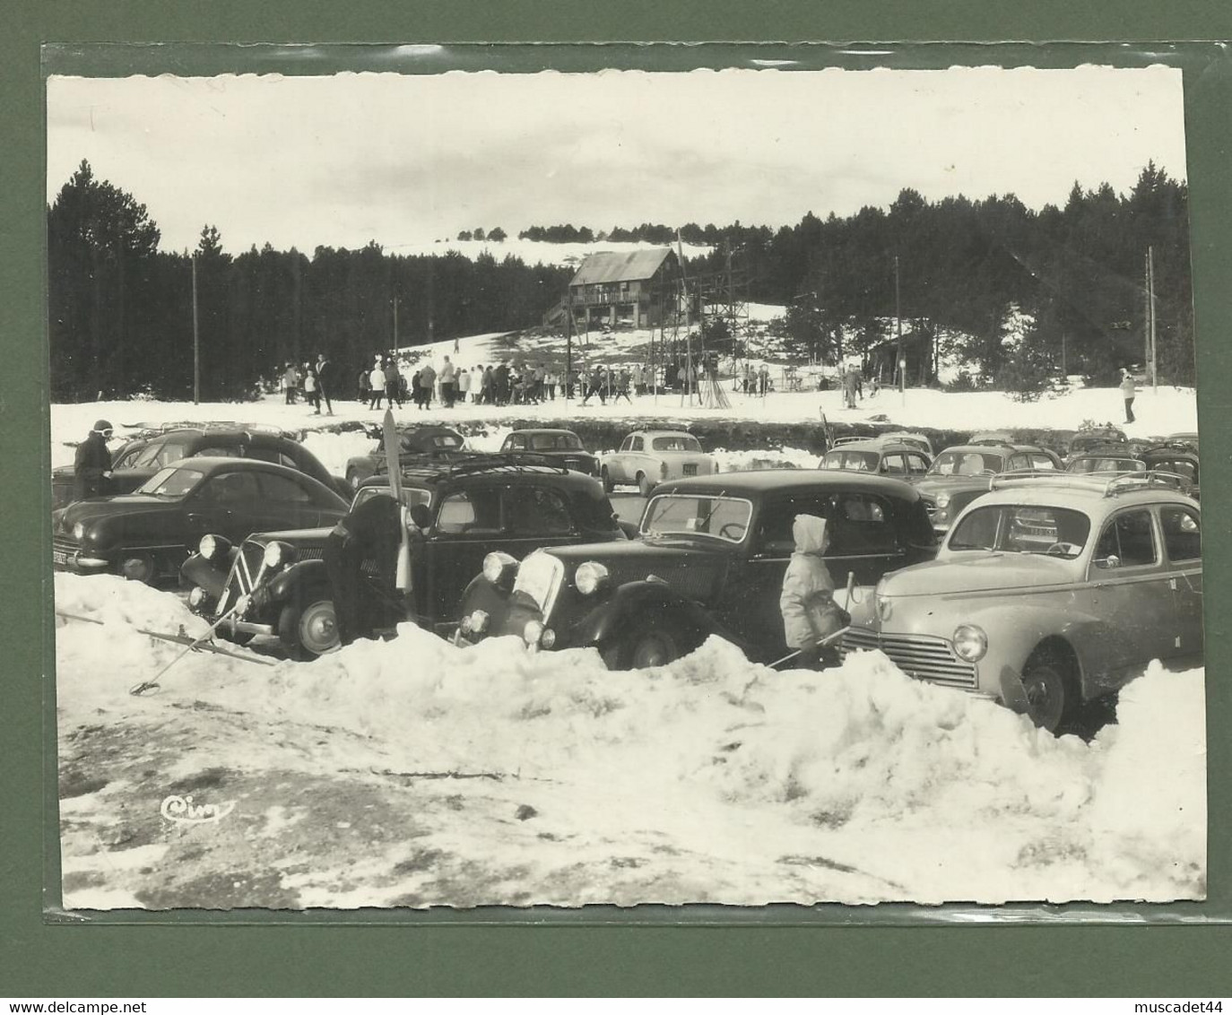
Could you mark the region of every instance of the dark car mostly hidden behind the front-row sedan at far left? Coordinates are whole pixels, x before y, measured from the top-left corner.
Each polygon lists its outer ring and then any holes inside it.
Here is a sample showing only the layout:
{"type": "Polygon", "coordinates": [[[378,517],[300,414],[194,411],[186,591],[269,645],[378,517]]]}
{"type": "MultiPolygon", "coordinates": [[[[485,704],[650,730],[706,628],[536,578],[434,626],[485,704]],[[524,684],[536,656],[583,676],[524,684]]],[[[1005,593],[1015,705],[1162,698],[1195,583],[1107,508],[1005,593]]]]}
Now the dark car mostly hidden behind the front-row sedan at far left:
{"type": "MultiPolygon", "coordinates": [[[[176,426],[165,431],[144,431],[137,440],[122,445],[112,457],[107,494],[127,494],[148,482],[156,472],[182,458],[250,458],[297,469],[350,499],[352,489],[340,475],[330,475],[308,448],[290,434],[256,424],[176,426]]],[[[52,506],[73,501],[73,467],[52,472],[52,506]]]]}

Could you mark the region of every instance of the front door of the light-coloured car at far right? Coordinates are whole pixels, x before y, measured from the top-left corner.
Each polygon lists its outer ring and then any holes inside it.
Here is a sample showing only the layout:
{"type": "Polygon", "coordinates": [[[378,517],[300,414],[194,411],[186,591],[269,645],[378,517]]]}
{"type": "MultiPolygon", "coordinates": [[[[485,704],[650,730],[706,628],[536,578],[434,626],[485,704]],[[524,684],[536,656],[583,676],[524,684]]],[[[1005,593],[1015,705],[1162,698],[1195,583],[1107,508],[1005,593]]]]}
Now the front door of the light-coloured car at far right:
{"type": "Polygon", "coordinates": [[[1124,508],[1100,528],[1088,575],[1092,612],[1108,631],[1103,658],[1109,686],[1179,652],[1172,567],[1162,551],[1149,506],[1124,508]]]}

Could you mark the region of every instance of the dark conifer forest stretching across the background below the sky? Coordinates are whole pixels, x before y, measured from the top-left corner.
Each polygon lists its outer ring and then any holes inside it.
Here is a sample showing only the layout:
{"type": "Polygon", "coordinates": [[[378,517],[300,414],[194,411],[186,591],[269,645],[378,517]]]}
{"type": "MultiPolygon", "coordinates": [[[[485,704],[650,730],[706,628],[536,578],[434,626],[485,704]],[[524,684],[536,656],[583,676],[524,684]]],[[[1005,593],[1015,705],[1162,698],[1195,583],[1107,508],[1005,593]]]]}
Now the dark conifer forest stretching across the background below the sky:
{"type": "MultiPolygon", "coordinates": [[[[494,233],[504,235],[499,227],[471,235],[494,233]]],[[[1194,379],[1188,187],[1153,164],[1129,193],[1076,182],[1063,207],[1040,211],[1013,195],[926,201],[907,188],[888,208],[809,213],[777,230],[643,223],[519,235],[671,244],[678,234],[711,248],[689,260],[690,276],[721,278],[731,264],[745,298],[785,304],[800,356],[834,361],[890,339],[899,305],[904,330],[1010,388],[1037,387],[1062,368],[1106,379],[1143,362],[1149,248],[1159,376],[1194,379]],[[1018,319],[1029,321],[1021,341],[1018,319]]],[[[278,365],[318,352],[345,376],[391,349],[395,328],[397,342],[413,345],[537,325],[573,273],[514,256],[392,255],[375,243],[310,256],[266,244],[232,256],[209,225],[191,255],[161,251],[159,239],[145,207],[85,161],[57,195],[48,208],[53,398],[191,395],[193,262],[203,398],[241,397],[278,365]]]]}

